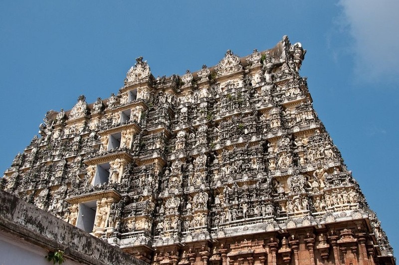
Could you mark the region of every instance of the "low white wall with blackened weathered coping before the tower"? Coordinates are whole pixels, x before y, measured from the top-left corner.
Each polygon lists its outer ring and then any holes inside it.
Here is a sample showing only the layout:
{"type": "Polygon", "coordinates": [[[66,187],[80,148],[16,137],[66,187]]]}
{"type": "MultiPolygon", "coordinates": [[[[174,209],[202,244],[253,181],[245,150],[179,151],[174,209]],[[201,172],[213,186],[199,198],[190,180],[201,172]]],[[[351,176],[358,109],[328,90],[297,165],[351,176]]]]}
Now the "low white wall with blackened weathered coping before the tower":
{"type": "Polygon", "coordinates": [[[80,229],[0,191],[0,263],[49,264],[49,251],[64,251],[65,264],[146,265],[80,229]]]}

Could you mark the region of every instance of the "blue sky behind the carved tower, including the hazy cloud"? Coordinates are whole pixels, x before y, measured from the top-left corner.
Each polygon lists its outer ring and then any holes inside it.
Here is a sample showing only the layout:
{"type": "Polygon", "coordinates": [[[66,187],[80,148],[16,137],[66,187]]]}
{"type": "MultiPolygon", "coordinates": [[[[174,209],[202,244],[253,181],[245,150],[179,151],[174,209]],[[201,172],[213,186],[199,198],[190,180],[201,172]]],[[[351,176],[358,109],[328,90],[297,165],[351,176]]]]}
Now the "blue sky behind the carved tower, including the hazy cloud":
{"type": "Polygon", "coordinates": [[[143,56],[154,76],[183,75],[273,47],[307,49],[314,107],[397,250],[399,1],[1,1],[0,170],[46,111],[94,102],[143,56]]]}

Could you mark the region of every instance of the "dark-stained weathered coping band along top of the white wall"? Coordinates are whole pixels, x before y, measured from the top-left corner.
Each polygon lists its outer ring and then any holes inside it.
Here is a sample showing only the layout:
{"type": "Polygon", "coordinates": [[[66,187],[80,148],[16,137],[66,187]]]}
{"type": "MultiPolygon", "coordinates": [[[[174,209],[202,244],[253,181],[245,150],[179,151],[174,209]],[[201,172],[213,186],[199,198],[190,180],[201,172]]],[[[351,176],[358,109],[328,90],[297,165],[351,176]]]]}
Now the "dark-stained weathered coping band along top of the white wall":
{"type": "Polygon", "coordinates": [[[146,265],[4,191],[0,191],[0,231],[48,251],[64,250],[65,258],[79,264],[146,265]]]}

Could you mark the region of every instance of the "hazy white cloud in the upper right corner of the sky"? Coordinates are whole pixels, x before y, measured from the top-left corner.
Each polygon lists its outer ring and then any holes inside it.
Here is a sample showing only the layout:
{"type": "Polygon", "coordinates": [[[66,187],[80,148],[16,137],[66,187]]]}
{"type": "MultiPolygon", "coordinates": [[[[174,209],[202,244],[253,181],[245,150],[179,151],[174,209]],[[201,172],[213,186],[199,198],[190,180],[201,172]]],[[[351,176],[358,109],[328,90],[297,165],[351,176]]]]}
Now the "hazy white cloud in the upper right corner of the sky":
{"type": "Polygon", "coordinates": [[[354,38],[355,73],[366,82],[399,81],[399,1],[340,0],[354,38]]]}

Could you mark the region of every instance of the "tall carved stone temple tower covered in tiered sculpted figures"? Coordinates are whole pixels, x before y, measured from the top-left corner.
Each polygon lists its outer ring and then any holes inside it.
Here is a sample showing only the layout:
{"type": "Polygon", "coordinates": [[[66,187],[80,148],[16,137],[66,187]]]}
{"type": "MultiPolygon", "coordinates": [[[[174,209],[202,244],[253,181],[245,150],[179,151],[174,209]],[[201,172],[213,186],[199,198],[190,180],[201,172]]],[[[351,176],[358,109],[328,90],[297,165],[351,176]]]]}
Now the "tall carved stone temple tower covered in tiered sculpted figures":
{"type": "Polygon", "coordinates": [[[275,47],[48,111],[0,189],[154,265],[395,264],[312,107],[306,50],[275,47]]]}

